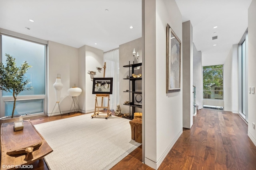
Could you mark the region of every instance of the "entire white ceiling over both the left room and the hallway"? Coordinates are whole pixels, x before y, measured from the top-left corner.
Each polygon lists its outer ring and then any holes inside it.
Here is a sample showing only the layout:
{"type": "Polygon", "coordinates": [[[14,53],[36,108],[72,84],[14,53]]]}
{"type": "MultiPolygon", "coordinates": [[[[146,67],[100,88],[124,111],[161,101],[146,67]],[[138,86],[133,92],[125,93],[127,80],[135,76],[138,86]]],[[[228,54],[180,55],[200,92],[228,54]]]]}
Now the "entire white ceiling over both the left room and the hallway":
{"type": "MultiPolygon", "coordinates": [[[[183,22],[191,21],[193,42],[202,57],[221,60],[244,34],[251,2],[176,0],[183,22]],[[213,36],[218,39],[212,40],[213,36]]],[[[76,48],[89,45],[109,51],[142,37],[141,10],[141,0],[0,0],[0,28],[76,48]]]]}

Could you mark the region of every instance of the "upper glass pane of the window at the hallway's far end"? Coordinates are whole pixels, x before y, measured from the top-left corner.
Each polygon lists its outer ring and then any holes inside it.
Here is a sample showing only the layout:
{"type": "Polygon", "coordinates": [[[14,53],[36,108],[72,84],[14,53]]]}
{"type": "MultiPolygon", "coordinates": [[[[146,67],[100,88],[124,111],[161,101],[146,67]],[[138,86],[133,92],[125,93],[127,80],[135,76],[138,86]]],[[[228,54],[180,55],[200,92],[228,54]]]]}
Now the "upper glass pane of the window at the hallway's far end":
{"type": "Polygon", "coordinates": [[[204,99],[223,100],[223,65],[203,66],[204,99]]]}

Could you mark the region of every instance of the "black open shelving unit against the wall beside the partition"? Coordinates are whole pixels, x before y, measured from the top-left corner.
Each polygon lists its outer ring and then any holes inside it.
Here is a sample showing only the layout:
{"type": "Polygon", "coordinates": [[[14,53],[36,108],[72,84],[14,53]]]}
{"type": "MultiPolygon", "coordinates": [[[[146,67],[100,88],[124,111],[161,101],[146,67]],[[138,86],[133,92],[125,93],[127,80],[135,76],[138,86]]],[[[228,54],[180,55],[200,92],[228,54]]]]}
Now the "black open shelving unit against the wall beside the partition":
{"type": "Polygon", "coordinates": [[[132,113],[132,115],[130,116],[123,116],[124,118],[126,119],[133,119],[134,117],[134,113],[136,112],[135,111],[135,108],[136,107],[139,107],[139,108],[142,108],[142,105],[140,104],[135,104],[134,103],[134,94],[142,94],[142,92],[138,92],[135,90],[135,81],[137,80],[142,80],[142,77],[139,77],[139,78],[134,78],[132,77],[132,74],[134,74],[134,68],[138,67],[138,66],[142,66],[142,63],[136,63],[136,64],[130,64],[129,62],[129,65],[124,65],[123,67],[129,67],[129,78],[124,78],[124,80],[130,80],[132,82],[132,85],[131,83],[129,83],[129,91],[124,91],[126,93],[130,93],[130,97],[129,97],[129,104],[124,104],[125,106],[130,106],[130,113],[132,113]],[[132,73],[131,73],[131,70],[132,70],[132,73]],[[132,108],[132,112],[131,112],[131,108],[132,108]]]}

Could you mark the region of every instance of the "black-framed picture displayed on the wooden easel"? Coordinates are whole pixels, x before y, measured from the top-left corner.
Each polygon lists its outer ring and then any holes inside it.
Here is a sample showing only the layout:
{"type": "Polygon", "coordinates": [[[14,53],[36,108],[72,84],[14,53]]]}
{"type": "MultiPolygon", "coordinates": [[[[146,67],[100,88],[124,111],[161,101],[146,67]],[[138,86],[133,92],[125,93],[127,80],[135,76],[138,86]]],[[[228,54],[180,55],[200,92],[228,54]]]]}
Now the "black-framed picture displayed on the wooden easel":
{"type": "Polygon", "coordinates": [[[93,78],[92,94],[112,94],[113,78],[93,78]]]}

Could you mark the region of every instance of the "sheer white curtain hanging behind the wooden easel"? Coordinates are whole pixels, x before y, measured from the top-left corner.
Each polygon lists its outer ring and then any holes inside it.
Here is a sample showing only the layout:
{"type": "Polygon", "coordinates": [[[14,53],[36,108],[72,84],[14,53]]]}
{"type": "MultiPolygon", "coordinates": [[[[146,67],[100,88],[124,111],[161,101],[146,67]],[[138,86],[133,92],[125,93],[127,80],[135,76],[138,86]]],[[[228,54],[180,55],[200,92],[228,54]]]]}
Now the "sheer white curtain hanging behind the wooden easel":
{"type": "MultiPolygon", "coordinates": [[[[119,49],[113,49],[104,53],[104,62],[106,62],[105,77],[113,77],[113,93],[110,94],[110,109],[116,109],[119,104],[119,49]]],[[[104,99],[104,104],[108,103],[104,99]]]]}

